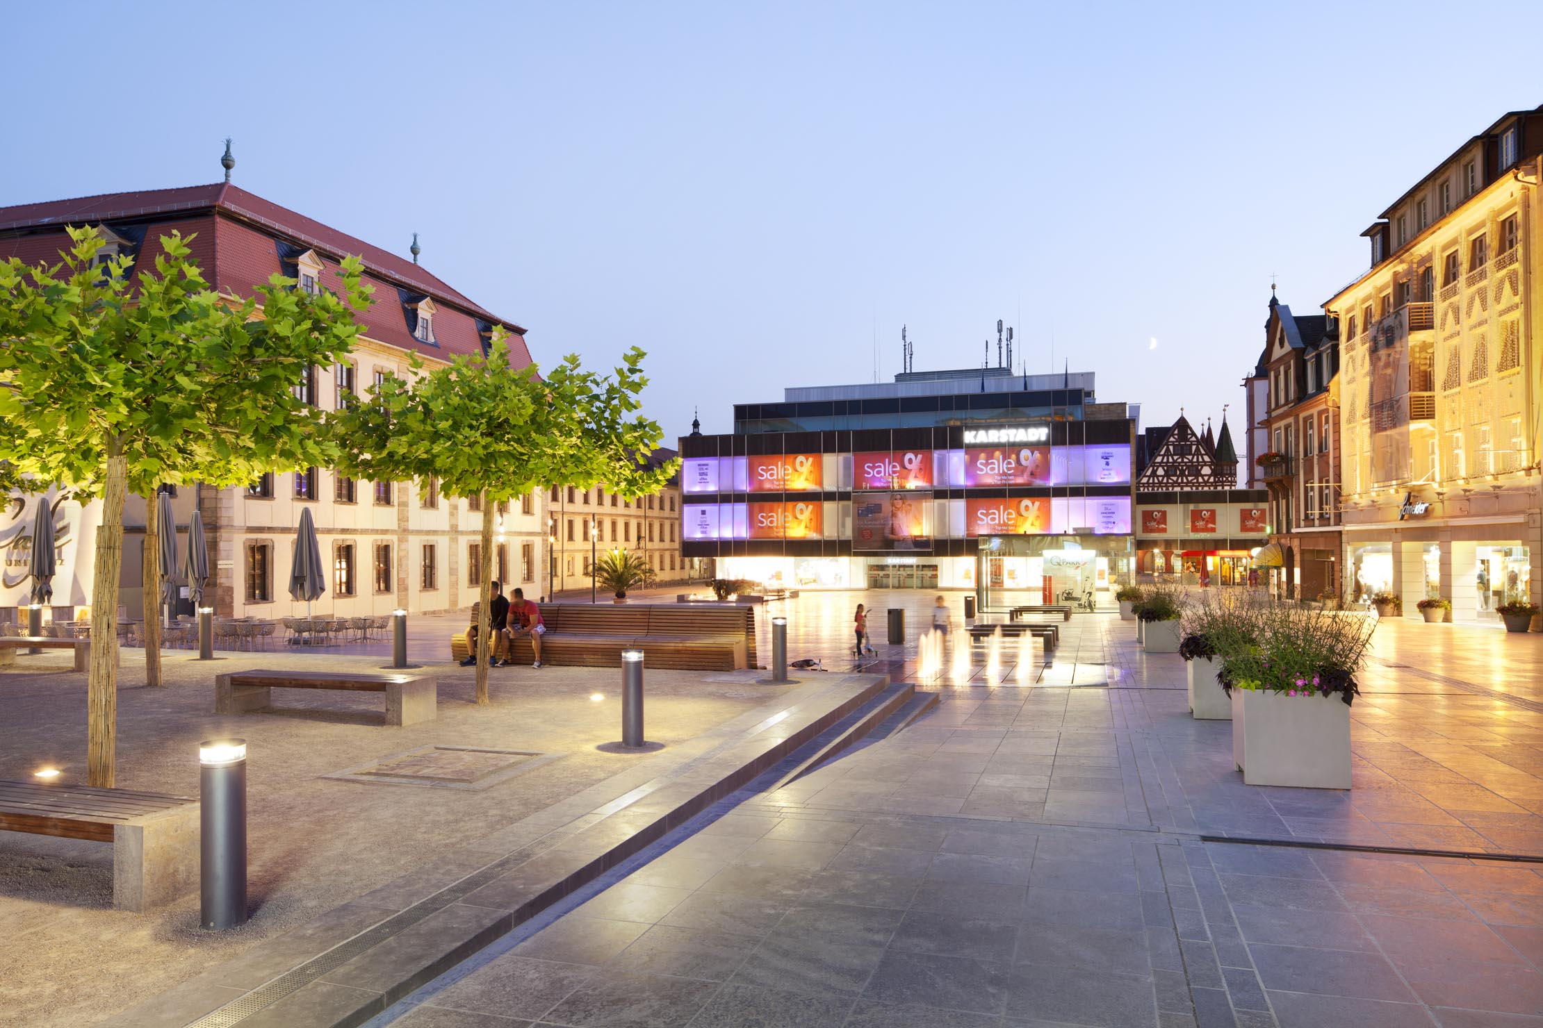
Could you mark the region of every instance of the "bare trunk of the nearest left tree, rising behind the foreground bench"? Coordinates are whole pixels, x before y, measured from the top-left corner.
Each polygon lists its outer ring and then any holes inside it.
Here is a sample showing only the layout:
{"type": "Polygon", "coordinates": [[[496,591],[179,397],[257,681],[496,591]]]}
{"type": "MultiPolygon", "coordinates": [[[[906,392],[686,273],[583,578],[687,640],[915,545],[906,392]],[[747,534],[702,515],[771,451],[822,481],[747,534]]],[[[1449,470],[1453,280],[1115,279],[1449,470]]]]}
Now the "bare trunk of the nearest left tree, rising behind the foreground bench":
{"type": "Polygon", "coordinates": [[[117,587],[123,569],[128,459],[108,442],[102,527],[91,575],[91,669],[86,675],[86,784],[111,789],[117,741],[117,587]]]}

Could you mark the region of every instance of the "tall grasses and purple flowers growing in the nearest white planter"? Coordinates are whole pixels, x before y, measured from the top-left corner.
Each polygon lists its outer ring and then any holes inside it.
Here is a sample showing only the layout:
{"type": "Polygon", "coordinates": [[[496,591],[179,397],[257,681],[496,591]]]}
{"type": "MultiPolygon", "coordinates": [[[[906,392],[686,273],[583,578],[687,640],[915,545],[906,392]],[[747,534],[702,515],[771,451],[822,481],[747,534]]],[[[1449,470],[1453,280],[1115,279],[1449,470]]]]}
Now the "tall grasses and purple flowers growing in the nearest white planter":
{"type": "Polygon", "coordinates": [[[1228,692],[1339,694],[1349,706],[1359,694],[1355,677],[1366,663],[1375,629],[1376,621],[1367,618],[1271,604],[1259,609],[1251,640],[1241,632],[1219,640],[1217,680],[1228,692]]]}

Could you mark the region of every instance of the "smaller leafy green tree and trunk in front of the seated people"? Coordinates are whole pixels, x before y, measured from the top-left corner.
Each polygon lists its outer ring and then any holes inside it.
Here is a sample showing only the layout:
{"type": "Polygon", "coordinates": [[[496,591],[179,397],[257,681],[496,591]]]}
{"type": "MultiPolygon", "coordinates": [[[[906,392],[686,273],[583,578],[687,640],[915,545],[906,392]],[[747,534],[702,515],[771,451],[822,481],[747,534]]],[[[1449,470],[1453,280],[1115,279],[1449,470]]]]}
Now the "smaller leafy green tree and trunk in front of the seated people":
{"type": "Polygon", "coordinates": [[[535,489],[605,484],[628,498],[657,490],[671,464],[643,458],[663,430],[639,415],[643,351],[631,348],[613,375],[569,354],[542,375],[509,364],[500,331],[486,356],[458,356],[412,382],[387,378],[370,401],[335,421],[339,469],[370,481],[438,479],[446,496],[481,496],[481,613],[477,703],[488,703],[488,610],[497,504],[535,489]]]}

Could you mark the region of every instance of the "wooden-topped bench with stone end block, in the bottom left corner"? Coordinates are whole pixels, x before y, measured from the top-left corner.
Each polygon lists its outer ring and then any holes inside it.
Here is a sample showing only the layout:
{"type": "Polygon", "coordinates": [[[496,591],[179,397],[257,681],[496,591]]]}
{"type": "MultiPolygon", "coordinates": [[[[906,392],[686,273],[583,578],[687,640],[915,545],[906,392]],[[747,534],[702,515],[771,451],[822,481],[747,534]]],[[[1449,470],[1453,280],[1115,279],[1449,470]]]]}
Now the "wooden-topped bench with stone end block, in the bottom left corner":
{"type": "Polygon", "coordinates": [[[159,906],[198,888],[198,800],[0,781],[0,829],[113,843],[113,906],[122,911],[159,906]]]}

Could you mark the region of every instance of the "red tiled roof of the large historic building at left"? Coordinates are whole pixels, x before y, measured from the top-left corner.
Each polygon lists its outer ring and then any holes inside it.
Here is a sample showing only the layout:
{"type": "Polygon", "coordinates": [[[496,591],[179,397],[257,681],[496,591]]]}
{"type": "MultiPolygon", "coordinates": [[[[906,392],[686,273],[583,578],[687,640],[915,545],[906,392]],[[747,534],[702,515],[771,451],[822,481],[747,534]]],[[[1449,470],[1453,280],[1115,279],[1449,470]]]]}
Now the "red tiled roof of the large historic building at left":
{"type": "Polygon", "coordinates": [[[375,304],[360,316],[370,339],[446,361],[481,351],[475,321],[480,317],[509,330],[509,362],[514,367],[531,364],[523,328],[471,302],[423,267],[228,183],[3,207],[0,259],[56,262],[65,225],[113,220],[145,223],[140,256],[148,256],[147,247],[150,254],[156,253],[157,236],[173,228],[184,236],[196,234],[190,247],[204,276],[216,288],[239,296],[252,296],[256,285],[282,271],[273,242],[276,236],[316,250],[329,271],[338,267],[341,256],[358,256],[364,262],[366,279],[375,285],[375,304]],[[216,211],[222,216],[214,217],[216,211]],[[438,304],[440,313],[434,319],[438,345],[420,342],[407,330],[398,287],[432,296],[438,304]]]}

